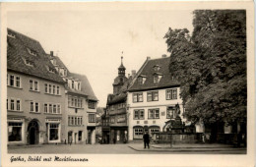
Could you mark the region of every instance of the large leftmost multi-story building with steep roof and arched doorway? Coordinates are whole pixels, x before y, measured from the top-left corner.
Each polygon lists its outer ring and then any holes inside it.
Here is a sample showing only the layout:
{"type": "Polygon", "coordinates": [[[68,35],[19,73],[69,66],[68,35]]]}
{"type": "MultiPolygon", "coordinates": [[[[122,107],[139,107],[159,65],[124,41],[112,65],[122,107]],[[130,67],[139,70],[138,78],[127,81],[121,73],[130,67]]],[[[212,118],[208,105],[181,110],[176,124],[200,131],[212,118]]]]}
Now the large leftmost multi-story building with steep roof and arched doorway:
{"type": "Polygon", "coordinates": [[[8,144],[61,142],[64,82],[38,41],[7,31],[8,144]]]}

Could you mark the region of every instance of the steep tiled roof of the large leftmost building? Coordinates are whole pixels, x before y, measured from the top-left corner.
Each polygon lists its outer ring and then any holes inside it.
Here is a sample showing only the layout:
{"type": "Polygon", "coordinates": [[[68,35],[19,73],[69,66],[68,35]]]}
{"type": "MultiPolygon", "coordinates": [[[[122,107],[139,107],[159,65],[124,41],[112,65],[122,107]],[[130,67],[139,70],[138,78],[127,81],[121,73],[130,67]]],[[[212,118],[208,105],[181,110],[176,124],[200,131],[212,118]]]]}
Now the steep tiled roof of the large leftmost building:
{"type": "Polygon", "coordinates": [[[62,78],[56,73],[54,66],[47,58],[45,51],[37,40],[19,33],[10,28],[8,33],[12,33],[15,37],[8,35],[7,37],[7,69],[33,77],[49,80],[56,83],[64,83],[62,78]],[[32,55],[29,50],[36,53],[32,55]],[[32,62],[33,66],[26,65],[25,61],[32,62]],[[54,73],[49,72],[48,68],[54,73]]]}

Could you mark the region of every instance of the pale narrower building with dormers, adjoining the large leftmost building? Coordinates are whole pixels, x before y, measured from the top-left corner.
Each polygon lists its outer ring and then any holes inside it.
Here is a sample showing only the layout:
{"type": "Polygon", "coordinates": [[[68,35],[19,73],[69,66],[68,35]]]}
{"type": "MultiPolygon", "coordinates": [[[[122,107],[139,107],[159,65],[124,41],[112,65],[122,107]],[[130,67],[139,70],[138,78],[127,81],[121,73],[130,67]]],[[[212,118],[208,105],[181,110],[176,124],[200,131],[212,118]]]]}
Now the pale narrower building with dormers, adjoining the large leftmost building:
{"type": "Polygon", "coordinates": [[[71,73],[58,56],[49,59],[65,81],[65,139],[68,143],[96,142],[97,98],[86,76],[71,73]]]}

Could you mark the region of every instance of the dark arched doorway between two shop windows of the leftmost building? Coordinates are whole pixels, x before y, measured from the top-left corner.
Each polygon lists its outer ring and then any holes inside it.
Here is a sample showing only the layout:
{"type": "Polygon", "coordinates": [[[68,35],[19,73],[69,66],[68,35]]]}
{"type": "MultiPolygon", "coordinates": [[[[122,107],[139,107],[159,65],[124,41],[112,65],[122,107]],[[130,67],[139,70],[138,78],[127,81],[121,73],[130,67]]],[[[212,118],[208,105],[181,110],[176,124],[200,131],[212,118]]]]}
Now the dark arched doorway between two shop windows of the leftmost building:
{"type": "Polygon", "coordinates": [[[31,121],[28,126],[28,143],[37,144],[39,142],[39,126],[36,121],[31,121]]]}

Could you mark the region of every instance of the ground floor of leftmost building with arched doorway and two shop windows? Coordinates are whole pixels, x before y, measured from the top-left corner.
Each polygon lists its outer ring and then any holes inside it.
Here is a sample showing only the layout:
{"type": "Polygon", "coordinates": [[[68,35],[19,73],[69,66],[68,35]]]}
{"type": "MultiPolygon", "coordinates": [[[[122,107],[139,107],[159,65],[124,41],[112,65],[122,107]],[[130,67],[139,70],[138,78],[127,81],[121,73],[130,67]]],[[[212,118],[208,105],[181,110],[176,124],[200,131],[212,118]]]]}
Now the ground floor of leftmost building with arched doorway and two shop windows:
{"type": "Polygon", "coordinates": [[[8,144],[60,143],[61,122],[61,118],[8,116],[8,144]]]}

